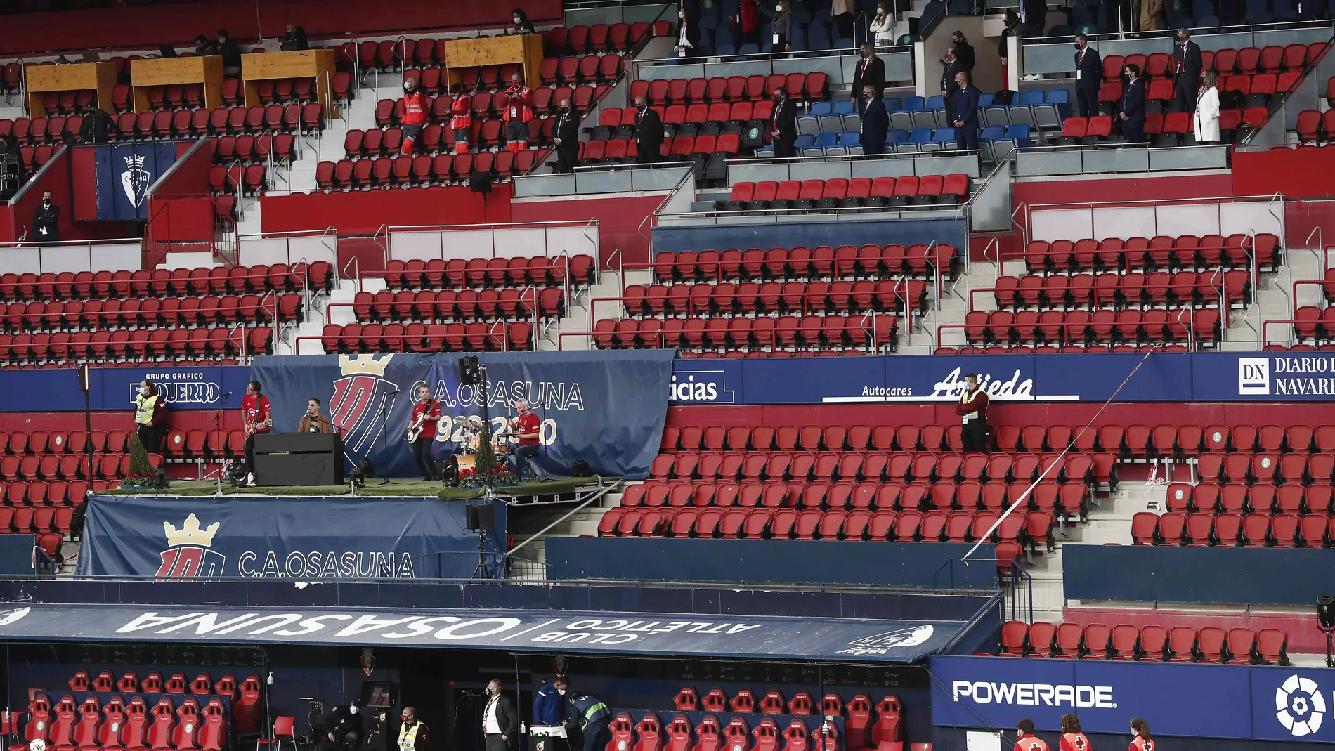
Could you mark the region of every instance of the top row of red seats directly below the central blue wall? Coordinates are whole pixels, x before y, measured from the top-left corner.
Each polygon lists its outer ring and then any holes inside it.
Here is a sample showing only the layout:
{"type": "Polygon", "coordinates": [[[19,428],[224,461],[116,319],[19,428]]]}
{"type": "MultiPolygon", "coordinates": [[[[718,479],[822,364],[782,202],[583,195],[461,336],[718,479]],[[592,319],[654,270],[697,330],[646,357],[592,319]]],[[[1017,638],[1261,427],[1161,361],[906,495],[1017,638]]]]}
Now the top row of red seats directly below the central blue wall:
{"type": "MultiPolygon", "coordinates": [[[[800,185],[796,180],[792,183],[800,185]]],[[[741,184],[741,183],[740,183],[741,184]]],[[[765,183],[757,183],[765,185],[765,183]]],[[[736,185],[734,185],[736,188],[736,185]]],[[[788,185],[786,189],[792,189],[788,185]]],[[[745,189],[744,189],[745,191],[745,189]]],[[[741,195],[745,195],[742,192],[741,195]]],[[[932,276],[959,260],[945,243],[901,245],[817,245],[816,248],[728,248],[724,251],[661,251],[654,253],[654,277],[673,281],[857,279],[861,276],[932,276]]]]}

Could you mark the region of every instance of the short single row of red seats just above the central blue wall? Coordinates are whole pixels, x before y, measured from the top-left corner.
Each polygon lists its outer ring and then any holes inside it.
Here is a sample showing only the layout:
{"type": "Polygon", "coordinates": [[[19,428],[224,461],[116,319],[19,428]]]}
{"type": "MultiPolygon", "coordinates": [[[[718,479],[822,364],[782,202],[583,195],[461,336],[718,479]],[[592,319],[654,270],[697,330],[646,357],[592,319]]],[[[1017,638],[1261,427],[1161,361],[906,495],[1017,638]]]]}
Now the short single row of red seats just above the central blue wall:
{"type": "Polygon", "coordinates": [[[830,177],[828,180],[765,180],[734,183],[720,211],[780,208],[853,208],[952,204],[969,195],[968,175],[905,175],[901,177],[830,177]]]}

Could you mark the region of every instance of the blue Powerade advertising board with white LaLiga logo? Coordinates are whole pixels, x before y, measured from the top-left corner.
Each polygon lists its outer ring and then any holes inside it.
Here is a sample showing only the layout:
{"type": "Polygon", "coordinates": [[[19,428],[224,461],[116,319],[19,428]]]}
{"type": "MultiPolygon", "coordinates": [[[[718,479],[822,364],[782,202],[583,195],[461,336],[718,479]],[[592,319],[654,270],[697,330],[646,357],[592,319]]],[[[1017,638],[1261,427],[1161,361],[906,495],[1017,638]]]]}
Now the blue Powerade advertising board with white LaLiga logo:
{"type": "Polygon", "coordinates": [[[1013,730],[1029,718],[1057,731],[1335,743],[1335,670],[933,656],[932,724],[1013,730]],[[1171,708],[1171,710],[1169,710],[1171,708]]]}

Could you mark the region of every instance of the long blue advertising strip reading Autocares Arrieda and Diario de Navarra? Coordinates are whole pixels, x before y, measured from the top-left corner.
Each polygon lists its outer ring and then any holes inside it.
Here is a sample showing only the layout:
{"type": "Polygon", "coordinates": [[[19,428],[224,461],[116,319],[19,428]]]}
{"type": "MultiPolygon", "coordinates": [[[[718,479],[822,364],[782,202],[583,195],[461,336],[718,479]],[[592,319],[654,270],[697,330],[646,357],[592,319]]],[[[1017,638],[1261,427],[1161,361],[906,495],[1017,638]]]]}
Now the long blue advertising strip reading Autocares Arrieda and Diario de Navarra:
{"type": "Polygon", "coordinates": [[[1153,352],[677,360],[670,403],[955,402],[969,372],[995,402],[1335,400],[1332,355],[1153,352]]]}

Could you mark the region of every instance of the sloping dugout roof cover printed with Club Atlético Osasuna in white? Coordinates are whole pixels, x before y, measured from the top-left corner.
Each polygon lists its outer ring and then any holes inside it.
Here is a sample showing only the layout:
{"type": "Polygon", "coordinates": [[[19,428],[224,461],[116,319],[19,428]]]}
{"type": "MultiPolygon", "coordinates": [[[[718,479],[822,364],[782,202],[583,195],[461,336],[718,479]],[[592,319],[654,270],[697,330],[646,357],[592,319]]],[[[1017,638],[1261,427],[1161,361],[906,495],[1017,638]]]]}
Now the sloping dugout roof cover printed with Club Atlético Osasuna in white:
{"type": "Polygon", "coordinates": [[[963,623],[617,611],[0,603],[0,640],[469,647],[908,663],[963,623]]]}

